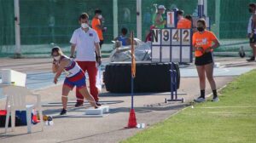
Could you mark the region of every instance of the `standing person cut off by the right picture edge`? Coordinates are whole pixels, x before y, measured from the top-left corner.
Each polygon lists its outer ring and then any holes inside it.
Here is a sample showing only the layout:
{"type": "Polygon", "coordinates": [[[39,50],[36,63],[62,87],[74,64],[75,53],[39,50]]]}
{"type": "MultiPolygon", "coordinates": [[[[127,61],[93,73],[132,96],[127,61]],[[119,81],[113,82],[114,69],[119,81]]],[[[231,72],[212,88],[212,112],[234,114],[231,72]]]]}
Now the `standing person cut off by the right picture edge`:
{"type": "Polygon", "coordinates": [[[253,22],[253,14],[256,13],[256,3],[249,4],[249,13],[252,14],[248,26],[247,26],[247,37],[249,37],[250,47],[253,49],[253,56],[247,61],[254,61],[256,56],[256,31],[255,31],[255,22],[253,22]]]}

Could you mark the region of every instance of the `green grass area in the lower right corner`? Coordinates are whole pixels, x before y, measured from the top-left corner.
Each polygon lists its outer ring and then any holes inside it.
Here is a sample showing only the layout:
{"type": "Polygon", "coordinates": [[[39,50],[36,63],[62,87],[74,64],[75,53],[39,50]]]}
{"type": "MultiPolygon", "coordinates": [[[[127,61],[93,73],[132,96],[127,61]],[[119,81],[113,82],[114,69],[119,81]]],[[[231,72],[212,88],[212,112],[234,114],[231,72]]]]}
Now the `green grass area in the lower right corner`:
{"type": "Polygon", "coordinates": [[[255,143],[256,71],[237,77],[219,95],[217,103],[195,104],[122,143],[255,143]]]}

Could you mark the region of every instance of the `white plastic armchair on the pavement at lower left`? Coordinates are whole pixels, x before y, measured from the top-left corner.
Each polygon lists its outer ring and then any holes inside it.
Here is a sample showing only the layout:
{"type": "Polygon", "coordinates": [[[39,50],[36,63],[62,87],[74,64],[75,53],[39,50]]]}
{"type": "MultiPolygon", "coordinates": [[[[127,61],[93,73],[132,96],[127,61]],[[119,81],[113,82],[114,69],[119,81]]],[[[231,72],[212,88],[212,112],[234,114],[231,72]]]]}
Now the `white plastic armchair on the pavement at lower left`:
{"type": "Polygon", "coordinates": [[[12,131],[15,131],[15,111],[26,110],[26,123],[27,133],[32,133],[31,115],[32,109],[36,108],[40,116],[40,124],[42,131],[44,130],[43,114],[41,110],[41,96],[39,94],[32,93],[26,87],[20,86],[7,86],[3,88],[3,94],[7,95],[7,115],[5,120],[5,133],[7,133],[9,124],[9,114],[11,113],[11,127],[12,131]],[[26,95],[34,95],[37,97],[36,105],[26,105],[26,95]]]}

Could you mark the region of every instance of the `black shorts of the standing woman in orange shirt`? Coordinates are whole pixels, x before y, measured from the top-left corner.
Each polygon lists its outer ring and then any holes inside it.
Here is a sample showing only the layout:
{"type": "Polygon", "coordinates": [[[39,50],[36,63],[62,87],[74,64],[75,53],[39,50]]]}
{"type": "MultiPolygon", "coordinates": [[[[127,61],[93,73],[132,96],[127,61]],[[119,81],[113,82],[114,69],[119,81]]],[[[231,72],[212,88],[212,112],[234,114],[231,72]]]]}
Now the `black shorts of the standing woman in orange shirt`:
{"type": "Polygon", "coordinates": [[[195,66],[205,66],[213,62],[212,52],[202,54],[200,57],[195,57],[195,66]]]}

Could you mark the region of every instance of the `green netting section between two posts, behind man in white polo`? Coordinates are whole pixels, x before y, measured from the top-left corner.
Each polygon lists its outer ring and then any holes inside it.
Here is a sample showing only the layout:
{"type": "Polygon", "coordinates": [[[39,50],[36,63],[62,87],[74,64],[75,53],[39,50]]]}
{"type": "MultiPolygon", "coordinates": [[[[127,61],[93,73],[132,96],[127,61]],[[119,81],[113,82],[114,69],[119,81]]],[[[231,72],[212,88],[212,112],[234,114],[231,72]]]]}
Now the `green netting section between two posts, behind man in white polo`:
{"type": "Polygon", "coordinates": [[[96,8],[106,17],[104,37],[109,41],[113,37],[112,6],[109,0],[20,0],[21,43],[69,43],[79,27],[79,14],[87,12],[92,20],[96,8]]]}

